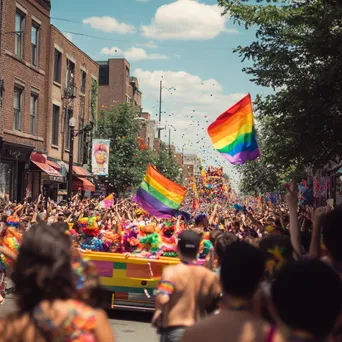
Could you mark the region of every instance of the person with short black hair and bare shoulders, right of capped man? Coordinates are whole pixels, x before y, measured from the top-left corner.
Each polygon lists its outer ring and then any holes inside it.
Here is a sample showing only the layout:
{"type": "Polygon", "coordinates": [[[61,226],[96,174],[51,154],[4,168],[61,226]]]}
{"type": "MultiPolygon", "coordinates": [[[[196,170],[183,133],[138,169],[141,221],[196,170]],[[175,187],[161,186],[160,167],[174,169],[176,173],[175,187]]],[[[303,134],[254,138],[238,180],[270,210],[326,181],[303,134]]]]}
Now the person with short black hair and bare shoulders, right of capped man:
{"type": "Polygon", "coordinates": [[[252,300],[264,272],[260,251],[233,242],[222,257],[222,310],[185,330],[182,342],[266,341],[268,325],[252,311],[252,300]]]}

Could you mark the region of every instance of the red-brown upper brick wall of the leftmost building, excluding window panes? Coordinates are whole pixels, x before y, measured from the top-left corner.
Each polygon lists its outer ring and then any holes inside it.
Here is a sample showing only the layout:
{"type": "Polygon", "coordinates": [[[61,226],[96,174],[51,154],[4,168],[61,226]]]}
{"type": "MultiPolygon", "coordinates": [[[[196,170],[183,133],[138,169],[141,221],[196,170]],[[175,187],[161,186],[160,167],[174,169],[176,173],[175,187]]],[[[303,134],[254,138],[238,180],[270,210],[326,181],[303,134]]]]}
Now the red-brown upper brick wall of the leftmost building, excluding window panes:
{"type": "Polygon", "coordinates": [[[9,143],[44,148],[46,113],[46,91],[49,59],[46,56],[49,42],[50,7],[46,1],[18,0],[4,1],[5,10],[5,69],[4,69],[4,106],[3,139],[9,143]],[[23,57],[15,53],[15,16],[20,11],[24,16],[23,57]],[[39,25],[38,65],[32,64],[31,27],[32,22],[39,25]],[[14,88],[22,90],[21,129],[14,129],[13,96],[14,88]],[[38,97],[38,110],[35,133],[30,133],[30,98],[38,97]]]}

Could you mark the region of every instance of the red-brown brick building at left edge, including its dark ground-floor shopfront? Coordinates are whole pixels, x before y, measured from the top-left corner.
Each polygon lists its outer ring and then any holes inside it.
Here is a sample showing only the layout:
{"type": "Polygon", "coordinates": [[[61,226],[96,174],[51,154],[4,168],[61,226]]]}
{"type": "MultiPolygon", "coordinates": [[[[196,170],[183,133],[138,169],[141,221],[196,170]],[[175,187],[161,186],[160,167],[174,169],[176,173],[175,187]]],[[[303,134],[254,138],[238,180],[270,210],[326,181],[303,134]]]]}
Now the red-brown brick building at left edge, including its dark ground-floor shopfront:
{"type": "Polygon", "coordinates": [[[50,1],[2,0],[0,197],[25,196],[30,155],[43,151],[50,1]]]}

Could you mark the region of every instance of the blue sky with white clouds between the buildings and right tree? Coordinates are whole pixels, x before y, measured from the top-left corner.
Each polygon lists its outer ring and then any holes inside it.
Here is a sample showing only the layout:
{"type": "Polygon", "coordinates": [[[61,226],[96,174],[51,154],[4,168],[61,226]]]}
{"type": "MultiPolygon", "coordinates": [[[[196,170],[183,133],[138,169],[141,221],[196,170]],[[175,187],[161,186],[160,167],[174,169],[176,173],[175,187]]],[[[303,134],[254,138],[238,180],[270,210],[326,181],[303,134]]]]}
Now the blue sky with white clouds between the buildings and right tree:
{"type": "Polygon", "coordinates": [[[247,64],[232,52],[254,32],[221,12],[215,0],[52,0],[51,17],[71,20],[52,23],[94,60],[126,57],[154,119],[163,79],[162,125],[176,128],[172,141],[206,164],[223,165],[206,127],[248,92],[254,98],[267,89],[249,81],[241,70],[247,64]]]}

